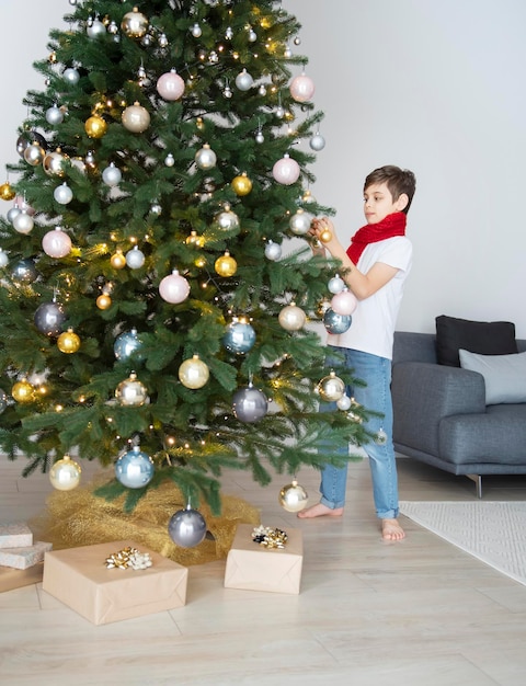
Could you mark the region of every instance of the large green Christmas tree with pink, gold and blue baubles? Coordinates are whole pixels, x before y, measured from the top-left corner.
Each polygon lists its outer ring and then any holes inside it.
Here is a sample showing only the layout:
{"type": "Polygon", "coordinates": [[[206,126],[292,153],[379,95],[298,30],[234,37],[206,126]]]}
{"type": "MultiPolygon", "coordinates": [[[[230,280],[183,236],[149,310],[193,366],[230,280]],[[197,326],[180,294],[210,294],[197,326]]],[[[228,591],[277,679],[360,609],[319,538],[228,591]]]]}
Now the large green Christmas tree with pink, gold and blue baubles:
{"type": "Polygon", "coordinates": [[[342,464],[329,436],[370,436],[311,325],[354,304],[310,245],[331,209],[298,21],[275,0],[69,3],[1,186],[0,446],[64,490],[76,460],[115,464],[101,492],[126,510],[171,480],[217,512],[222,468],[342,464]]]}

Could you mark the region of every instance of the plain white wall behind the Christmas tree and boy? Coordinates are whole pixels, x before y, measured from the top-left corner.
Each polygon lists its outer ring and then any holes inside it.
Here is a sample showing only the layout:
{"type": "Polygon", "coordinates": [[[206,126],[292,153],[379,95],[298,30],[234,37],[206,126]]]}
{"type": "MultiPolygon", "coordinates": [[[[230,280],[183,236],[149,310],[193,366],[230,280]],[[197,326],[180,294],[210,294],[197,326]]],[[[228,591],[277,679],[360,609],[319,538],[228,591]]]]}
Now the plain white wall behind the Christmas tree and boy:
{"type": "MultiPolygon", "coordinates": [[[[363,225],[367,172],[412,169],[414,266],[399,329],[436,315],[514,321],[526,338],[524,0],[283,0],[302,24],[327,147],[312,193],[342,236],[363,225]]],[[[32,61],[68,0],[0,0],[0,164],[16,159],[21,100],[43,88],[32,61]]],[[[298,69],[299,72],[299,69],[298,69]]],[[[2,179],[3,182],[3,179],[2,179]]],[[[0,209],[1,210],[1,209],[0,209]]]]}

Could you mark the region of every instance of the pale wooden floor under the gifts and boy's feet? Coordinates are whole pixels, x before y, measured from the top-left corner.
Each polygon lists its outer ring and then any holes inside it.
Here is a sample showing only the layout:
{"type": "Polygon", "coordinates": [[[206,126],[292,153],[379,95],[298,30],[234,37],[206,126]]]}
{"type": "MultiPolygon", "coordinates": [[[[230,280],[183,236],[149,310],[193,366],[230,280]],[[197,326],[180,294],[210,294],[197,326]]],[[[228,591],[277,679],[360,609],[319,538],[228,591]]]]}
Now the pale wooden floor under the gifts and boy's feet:
{"type": "MultiPolygon", "coordinates": [[[[399,460],[401,500],[474,499],[468,479],[399,460]]],[[[26,519],[50,491],[0,460],[0,521],[26,519]]],[[[85,470],[84,470],[85,471],[85,470]]],[[[318,475],[299,482],[318,499],[318,475]]],[[[287,483],[229,473],[225,493],[261,507],[265,526],[304,531],[299,595],[227,590],[225,562],[190,568],[186,606],[95,627],[41,584],[0,594],[3,686],[523,686],[526,586],[401,517],[380,540],[366,461],[350,467],[342,519],[298,521],[287,483]]],[[[526,478],[484,479],[484,499],[524,500],[526,478]]],[[[503,536],[506,531],[503,531],[503,536]]]]}

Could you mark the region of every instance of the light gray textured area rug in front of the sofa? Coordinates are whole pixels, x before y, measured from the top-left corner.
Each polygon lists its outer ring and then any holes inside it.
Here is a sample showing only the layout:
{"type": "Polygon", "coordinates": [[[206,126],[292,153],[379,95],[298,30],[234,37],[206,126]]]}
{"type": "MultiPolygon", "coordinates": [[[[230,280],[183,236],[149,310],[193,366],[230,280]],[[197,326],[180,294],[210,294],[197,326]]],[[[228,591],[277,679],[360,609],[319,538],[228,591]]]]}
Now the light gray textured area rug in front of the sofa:
{"type": "Polygon", "coordinates": [[[400,513],[526,585],[526,503],[401,502],[400,513]]]}

